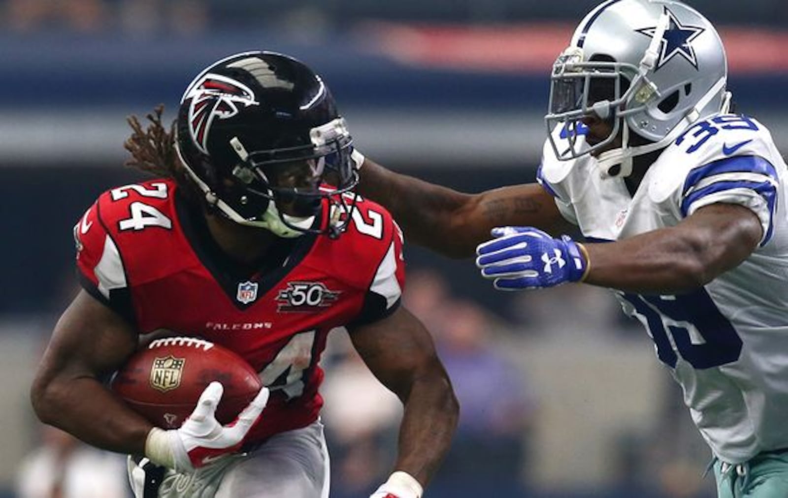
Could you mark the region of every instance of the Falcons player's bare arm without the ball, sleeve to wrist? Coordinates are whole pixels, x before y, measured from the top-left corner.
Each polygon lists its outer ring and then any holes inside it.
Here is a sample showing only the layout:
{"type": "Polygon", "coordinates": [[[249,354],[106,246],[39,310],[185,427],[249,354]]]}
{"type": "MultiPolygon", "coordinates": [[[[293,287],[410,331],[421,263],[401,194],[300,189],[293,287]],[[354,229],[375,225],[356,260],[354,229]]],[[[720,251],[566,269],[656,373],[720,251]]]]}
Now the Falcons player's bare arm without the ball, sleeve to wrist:
{"type": "MultiPolygon", "coordinates": [[[[424,325],[400,307],[381,321],[350,330],[356,351],[405,407],[395,468],[429,482],[448,452],[459,405],[424,325]]],[[[400,496],[400,495],[398,495],[400,496]]],[[[403,494],[406,496],[418,496],[403,494]]]]}

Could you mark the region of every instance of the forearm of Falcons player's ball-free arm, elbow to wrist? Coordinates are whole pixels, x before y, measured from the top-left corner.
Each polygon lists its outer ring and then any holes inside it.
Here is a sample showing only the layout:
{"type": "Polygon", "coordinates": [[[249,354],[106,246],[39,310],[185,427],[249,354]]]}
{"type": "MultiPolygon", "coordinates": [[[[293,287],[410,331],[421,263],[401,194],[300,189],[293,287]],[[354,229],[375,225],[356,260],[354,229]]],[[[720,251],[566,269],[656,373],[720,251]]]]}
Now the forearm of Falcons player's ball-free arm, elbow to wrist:
{"type": "Polygon", "coordinates": [[[395,469],[426,485],[448,452],[458,418],[448,377],[435,373],[416,380],[405,400],[395,469]]]}

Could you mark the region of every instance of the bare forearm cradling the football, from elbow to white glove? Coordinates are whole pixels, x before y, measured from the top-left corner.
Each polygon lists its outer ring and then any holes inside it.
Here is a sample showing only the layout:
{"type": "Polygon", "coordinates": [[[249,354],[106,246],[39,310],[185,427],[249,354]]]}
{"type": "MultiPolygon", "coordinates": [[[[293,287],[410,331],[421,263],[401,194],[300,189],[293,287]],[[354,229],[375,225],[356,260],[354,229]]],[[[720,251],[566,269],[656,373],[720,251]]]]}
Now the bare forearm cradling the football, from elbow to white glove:
{"type": "Polygon", "coordinates": [[[35,413],[42,422],[111,452],[142,455],[152,425],[132,412],[99,381],[76,377],[35,386],[35,413]]]}

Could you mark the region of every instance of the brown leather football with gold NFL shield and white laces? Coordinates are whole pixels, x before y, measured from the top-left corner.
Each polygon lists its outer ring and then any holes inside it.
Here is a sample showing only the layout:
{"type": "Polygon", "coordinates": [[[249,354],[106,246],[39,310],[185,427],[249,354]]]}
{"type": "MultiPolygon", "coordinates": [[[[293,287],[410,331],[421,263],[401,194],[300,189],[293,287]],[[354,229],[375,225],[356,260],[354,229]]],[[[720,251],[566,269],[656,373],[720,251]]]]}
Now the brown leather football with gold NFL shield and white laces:
{"type": "Polygon", "coordinates": [[[152,341],[115,373],[110,388],[155,426],[177,429],[212,381],[225,388],[216,411],[222,425],[232,422],[262,388],[246,360],[195,337],[152,341]]]}

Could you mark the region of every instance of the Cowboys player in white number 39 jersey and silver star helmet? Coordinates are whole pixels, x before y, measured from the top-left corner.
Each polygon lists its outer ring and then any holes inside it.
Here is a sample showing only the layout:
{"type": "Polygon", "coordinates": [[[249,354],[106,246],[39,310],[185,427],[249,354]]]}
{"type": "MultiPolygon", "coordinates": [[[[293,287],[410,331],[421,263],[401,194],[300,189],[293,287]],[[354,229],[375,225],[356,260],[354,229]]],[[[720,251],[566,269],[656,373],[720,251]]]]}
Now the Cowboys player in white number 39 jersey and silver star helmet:
{"type": "Polygon", "coordinates": [[[716,29],[681,2],[608,0],[551,79],[537,184],[466,195],[366,159],[362,193],[411,242],[476,248],[496,288],[613,289],[682,385],[719,496],[788,496],[788,173],[730,112],[716,29]]]}

